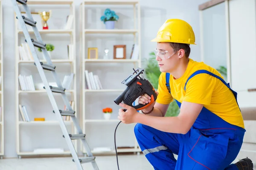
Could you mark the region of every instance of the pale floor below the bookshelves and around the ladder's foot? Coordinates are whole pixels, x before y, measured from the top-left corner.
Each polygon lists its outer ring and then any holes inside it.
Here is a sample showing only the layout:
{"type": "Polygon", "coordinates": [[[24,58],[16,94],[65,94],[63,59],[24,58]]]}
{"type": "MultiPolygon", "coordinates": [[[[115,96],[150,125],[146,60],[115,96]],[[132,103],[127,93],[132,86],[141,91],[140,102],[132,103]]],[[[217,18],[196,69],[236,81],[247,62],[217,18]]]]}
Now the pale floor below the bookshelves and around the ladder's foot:
{"type": "MultiPolygon", "coordinates": [[[[117,170],[116,156],[96,156],[99,170],[117,170]]],[[[154,170],[143,155],[118,156],[119,170],[154,170]]],[[[93,170],[90,163],[84,170],[93,170]]],[[[0,170],[76,170],[72,157],[1,159],[0,170]]]]}

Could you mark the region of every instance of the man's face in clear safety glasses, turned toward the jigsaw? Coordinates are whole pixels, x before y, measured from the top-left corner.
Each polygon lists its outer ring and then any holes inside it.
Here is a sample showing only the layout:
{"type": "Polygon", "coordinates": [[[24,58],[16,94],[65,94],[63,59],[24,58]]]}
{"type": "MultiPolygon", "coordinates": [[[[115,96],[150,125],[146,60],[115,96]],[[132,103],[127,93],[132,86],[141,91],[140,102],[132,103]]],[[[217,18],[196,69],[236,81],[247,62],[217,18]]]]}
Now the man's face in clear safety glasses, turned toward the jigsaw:
{"type": "Polygon", "coordinates": [[[155,51],[156,60],[161,72],[172,72],[178,66],[179,51],[175,53],[168,42],[158,42],[155,51]]]}

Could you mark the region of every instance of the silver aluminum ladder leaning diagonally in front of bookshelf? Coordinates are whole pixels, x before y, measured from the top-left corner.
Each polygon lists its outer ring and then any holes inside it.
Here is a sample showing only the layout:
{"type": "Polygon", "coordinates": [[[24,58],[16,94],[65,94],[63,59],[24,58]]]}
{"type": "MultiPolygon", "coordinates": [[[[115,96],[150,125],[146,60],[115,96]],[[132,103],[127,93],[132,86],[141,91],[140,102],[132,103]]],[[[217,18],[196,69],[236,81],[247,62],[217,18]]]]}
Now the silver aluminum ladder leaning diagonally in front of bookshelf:
{"type": "Polygon", "coordinates": [[[71,152],[71,155],[73,157],[73,161],[76,163],[77,169],[78,170],[83,170],[83,167],[82,167],[81,164],[91,162],[92,165],[93,165],[94,170],[99,170],[99,168],[96,164],[96,161],[95,161],[95,156],[93,156],[93,154],[91,153],[90,148],[89,148],[89,146],[88,146],[88,144],[85,140],[85,134],[83,134],[83,132],[81,130],[81,127],[79,126],[79,122],[78,122],[78,120],[75,116],[75,111],[73,111],[73,109],[70,105],[70,102],[67,99],[67,96],[65,94],[65,88],[62,87],[61,81],[58,78],[57,73],[55,72],[55,66],[52,64],[52,61],[49,57],[49,54],[47,53],[47,50],[45,48],[46,44],[43,42],[43,40],[41,38],[41,35],[38,31],[38,28],[36,27],[36,22],[34,21],[34,19],[32,17],[32,14],[31,14],[31,11],[30,11],[30,9],[27,5],[27,0],[12,0],[12,4],[14,6],[14,10],[15,10],[15,13],[16,13],[16,16],[17,16],[16,18],[18,19],[19,24],[20,24],[20,26],[23,30],[23,34],[24,34],[25,39],[26,39],[25,42],[28,43],[29,48],[30,48],[31,53],[32,53],[32,56],[34,58],[34,61],[35,61],[34,65],[37,67],[38,72],[39,72],[40,77],[41,77],[41,80],[44,83],[44,89],[46,90],[47,95],[49,97],[49,100],[52,104],[53,113],[55,113],[56,119],[58,120],[58,122],[60,124],[61,130],[62,130],[62,133],[63,133],[63,137],[65,138],[65,140],[67,142],[67,145],[68,145],[68,147],[70,149],[70,152],[71,152]],[[21,15],[18,3],[20,3],[23,6],[24,10],[26,11],[27,17],[21,15]],[[29,26],[32,26],[33,31],[35,33],[35,37],[36,37],[37,40],[34,40],[30,37],[29,31],[26,27],[26,24],[29,25],[29,26]],[[40,60],[38,58],[38,55],[36,53],[35,47],[42,49],[42,52],[44,54],[44,58],[46,59],[47,63],[40,62],[40,60]],[[56,81],[56,84],[57,84],[58,87],[53,87],[53,86],[49,85],[49,83],[47,81],[47,78],[46,78],[46,75],[44,74],[44,70],[52,72],[53,77],[55,78],[55,81],[56,81]],[[64,100],[64,104],[67,107],[67,111],[62,111],[62,110],[58,109],[58,105],[55,101],[53,93],[60,93],[61,94],[62,99],[64,100]],[[66,128],[64,120],[62,119],[61,116],[71,116],[78,134],[69,134],[68,133],[68,130],[66,128]],[[84,158],[79,158],[78,157],[78,155],[76,153],[76,149],[75,149],[75,147],[72,143],[73,139],[77,139],[77,140],[80,139],[81,140],[81,142],[83,143],[83,146],[86,150],[87,157],[84,157],[84,158]]]}

